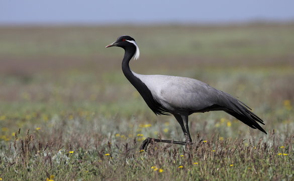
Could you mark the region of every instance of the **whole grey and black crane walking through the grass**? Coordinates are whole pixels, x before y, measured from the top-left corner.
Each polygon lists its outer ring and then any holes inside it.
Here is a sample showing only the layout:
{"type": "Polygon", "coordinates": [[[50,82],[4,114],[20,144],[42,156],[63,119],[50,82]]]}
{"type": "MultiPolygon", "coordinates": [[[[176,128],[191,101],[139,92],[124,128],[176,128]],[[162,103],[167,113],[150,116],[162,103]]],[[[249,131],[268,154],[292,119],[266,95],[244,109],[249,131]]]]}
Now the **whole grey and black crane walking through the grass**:
{"type": "Polygon", "coordinates": [[[209,111],[225,111],[253,129],[264,131],[258,124],[263,121],[252,113],[250,108],[233,96],[200,80],[187,77],[168,75],[142,75],[130,69],[129,62],[134,57],[138,59],[140,51],[134,38],[120,36],[115,42],[106,46],[117,46],[125,50],[122,69],[127,79],[140,93],[148,107],[156,115],[173,115],[180,124],[185,141],[162,140],[147,138],[140,149],[147,149],[148,144],[155,142],[189,145],[192,142],[188,116],[192,113],[209,111]]]}

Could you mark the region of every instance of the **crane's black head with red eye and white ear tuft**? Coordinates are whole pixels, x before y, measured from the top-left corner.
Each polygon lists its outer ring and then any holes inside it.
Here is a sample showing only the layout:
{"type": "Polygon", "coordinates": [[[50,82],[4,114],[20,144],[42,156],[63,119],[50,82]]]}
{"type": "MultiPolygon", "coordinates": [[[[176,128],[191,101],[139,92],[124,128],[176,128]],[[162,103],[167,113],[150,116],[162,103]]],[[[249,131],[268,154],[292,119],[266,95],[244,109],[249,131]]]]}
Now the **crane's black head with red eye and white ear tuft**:
{"type": "Polygon", "coordinates": [[[113,42],[112,44],[107,45],[106,48],[112,47],[112,46],[122,47],[123,49],[126,49],[129,46],[132,46],[132,47],[135,46],[136,52],[134,55],[134,59],[137,60],[140,56],[139,47],[138,47],[135,39],[130,36],[127,36],[127,35],[120,36],[117,39],[117,41],[113,42]]]}

